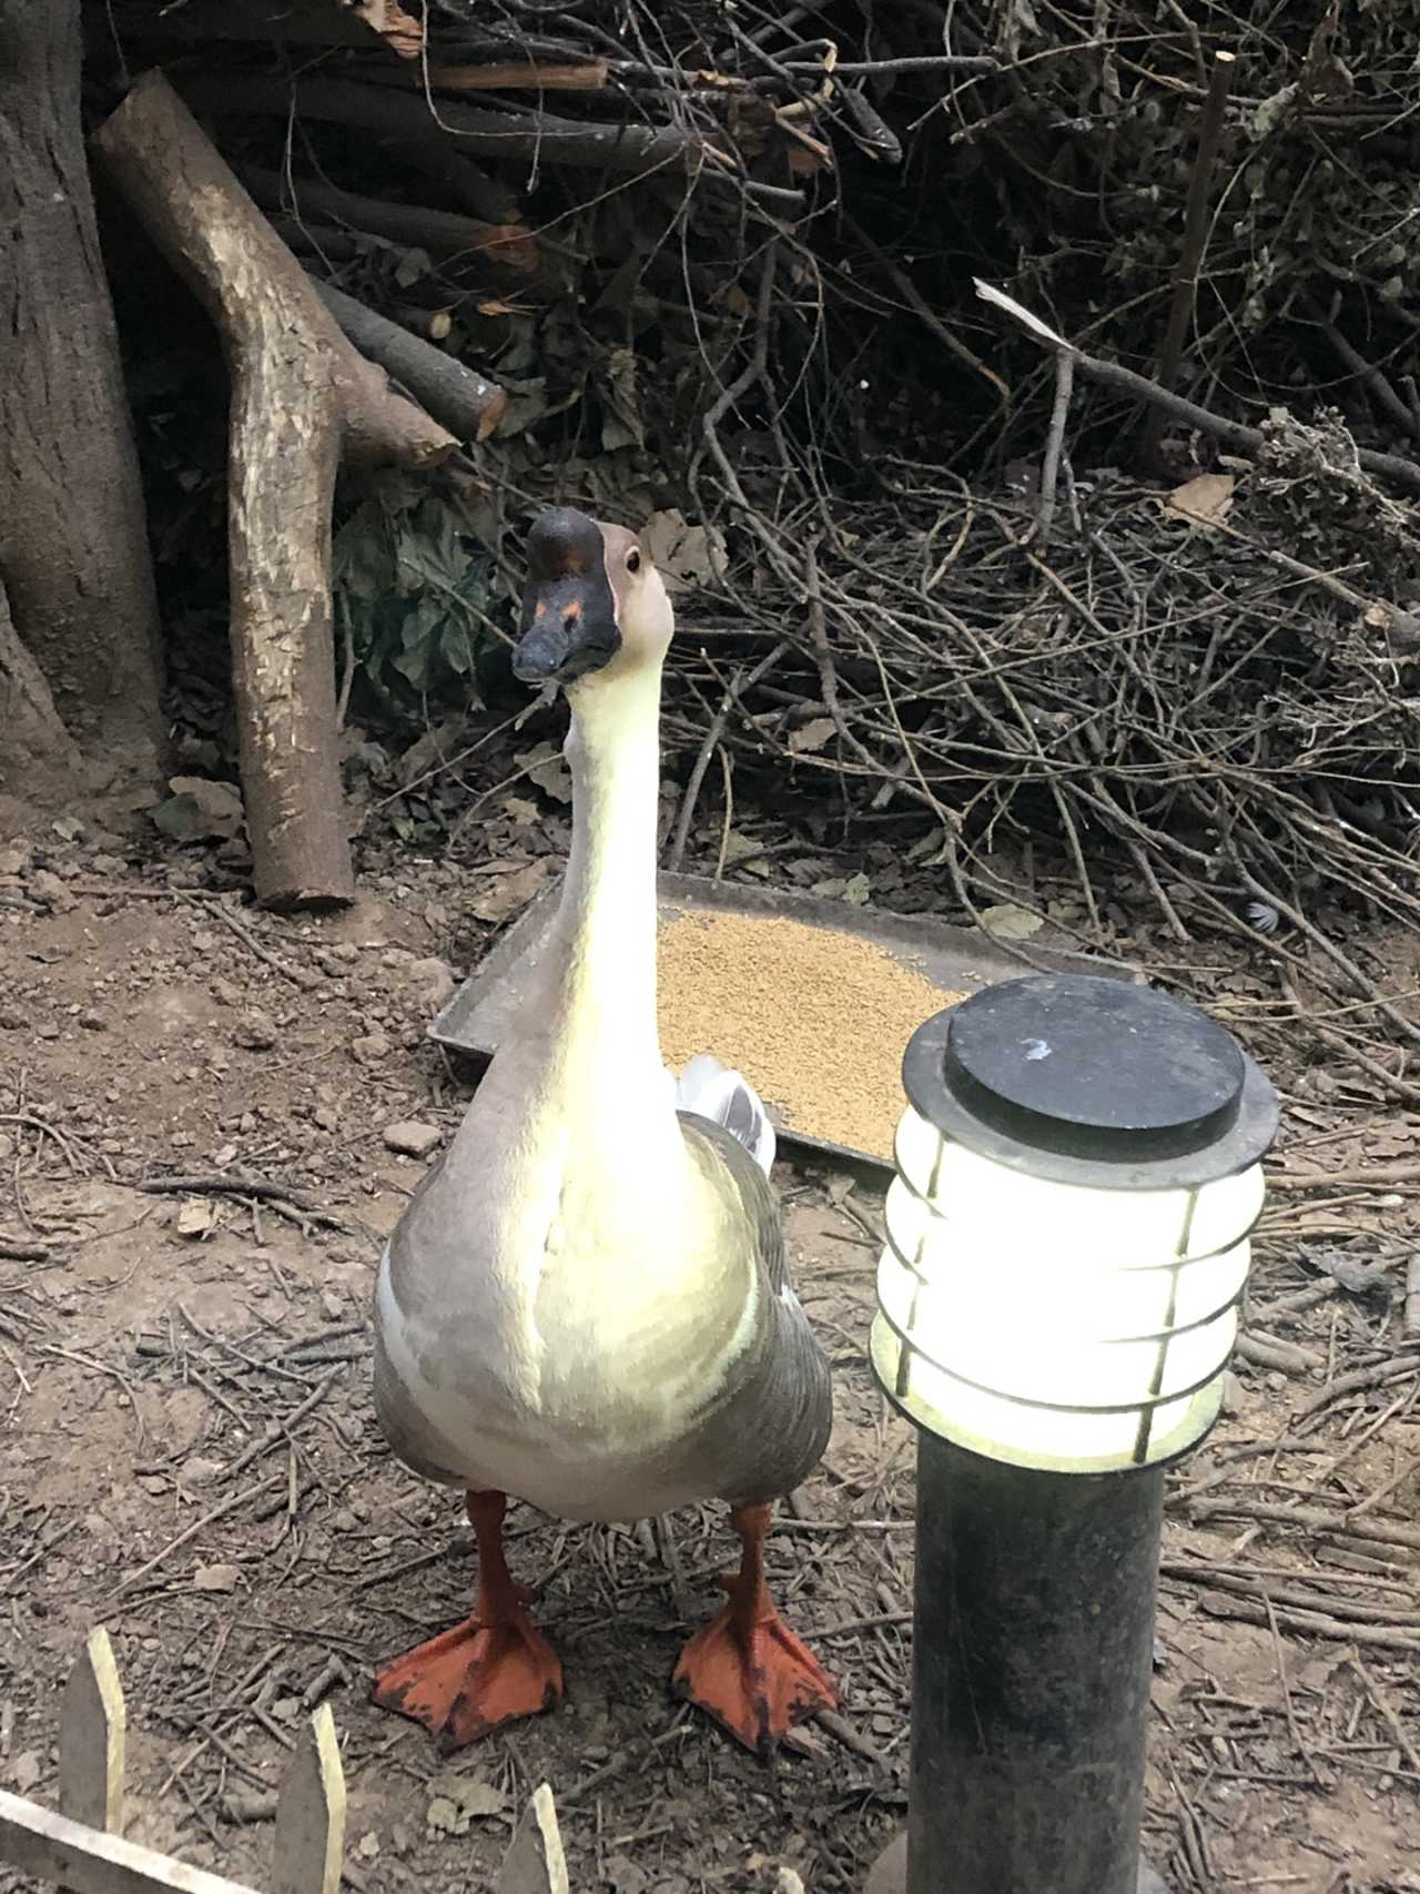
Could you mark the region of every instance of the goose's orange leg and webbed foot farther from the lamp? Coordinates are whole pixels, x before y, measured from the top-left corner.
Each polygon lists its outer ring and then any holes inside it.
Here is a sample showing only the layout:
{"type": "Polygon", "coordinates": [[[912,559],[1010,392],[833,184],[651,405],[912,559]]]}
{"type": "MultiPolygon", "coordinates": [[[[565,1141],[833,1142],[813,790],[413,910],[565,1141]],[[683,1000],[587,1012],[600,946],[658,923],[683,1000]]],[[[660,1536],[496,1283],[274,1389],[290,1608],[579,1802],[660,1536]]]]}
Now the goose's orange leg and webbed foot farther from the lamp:
{"type": "Polygon", "coordinates": [[[475,1742],[515,1716],[549,1710],[562,1695],[562,1665],[523,1610],[504,1557],[502,1492],[470,1492],[479,1542],[479,1602],[453,1631],[396,1657],[375,1678],[382,1710],[422,1724],[441,1754],[475,1742]]]}

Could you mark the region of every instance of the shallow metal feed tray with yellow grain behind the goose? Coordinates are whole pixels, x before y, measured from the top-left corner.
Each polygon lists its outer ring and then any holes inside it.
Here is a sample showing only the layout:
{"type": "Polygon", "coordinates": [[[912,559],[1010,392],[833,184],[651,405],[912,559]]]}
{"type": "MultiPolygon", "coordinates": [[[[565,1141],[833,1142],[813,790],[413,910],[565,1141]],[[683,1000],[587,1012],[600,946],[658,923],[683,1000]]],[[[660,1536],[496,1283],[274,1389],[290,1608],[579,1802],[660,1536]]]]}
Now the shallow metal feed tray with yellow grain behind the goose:
{"type": "MultiPolygon", "coordinates": [[[[712,955],[718,992],[714,1021],[706,1023],[704,1028],[704,1038],[710,1044],[666,1045],[666,1057],[680,1063],[693,1051],[716,1053],[727,1064],[738,1066],[761,1091],[784,1144],[827,1152],[882,1170],[890,1169],[886,1150],[890,1146],[890,1119],[886,1114],[890,1110],[896,1117],[901,1110],[897,1064],[913,1027],[920,1025],[932,1011],[962,994],[979,992],[1003,979],[1019,979],[1032,966],[1041,972],[1134,977],[1130,968],[1100,960],[1094,955],[1072,953],[1060,941],[1051,939],[1047,930],[1032,936],[1026,949],[1030,960],[1026,962],[1002,943],[992,941],[990,936],[971,928],[947,926],[943,920],[920,915],[854,907],[848,902],[829,902],[782,888],[714,883],[699,875],[661,875],[657,898],[666,1004],[672,1010],[678,1004],[678,994],[672,989],[676,968],[682,964],[678,955],[666,953],[666,947],[676,939],[685,941],[685,936],[683,932],[668,936],[665,930],[691,917],[712,938],[706,951],[712,955]],[[719,922],[716,917],[721,917],[719,922]],[[729,917],[738,919],[731,920],[729,917]],[[788,936],[786,930],[742,924],[754,920],[795,922],[799,928],[816,930],[824,939],[808,943],[808,938],[797,932],[788,936]],[[714,939],[716,926],[721,928],[723,939],[714,939]],[[759,936],[757,947],[755,936],[759,936]],[[793,955],[788,958],[778,951],[767,955],[765,949],[772,943],[793,945],[799,953],[807,945],[812,947],[820,985],[812,991],[807,989],[803,966],[790,964],[793,955]],[[863,945],[890,962],[880,970],[884,989],[901,989],[899,970],[914,975],[918,983],[914,991],[909,991],[905,1002],[914,1008],[913,1015],[894,1021],[886,1034],[880,1021],[865,1017],[869,1008],[825,1006],[824,1000],[835,991],[835,956],[844,970],[848,960],[854,962],[852,974],[860,983],[869,981],[871,985],[875,981],[877,968],[863,953],[863,945]],[[744,981],[737,979],[738,966],[744,968],[744,981]],[[737,1004],[740,991],[746,996],[742,1010],[737,1004]],[[795,1027],[801,1028],[797,1036],[795,1027]],[[788,1064],[784,1059],[776,1064],[771,1055],[771,1040],[778,1044],[780,1051],[791,1040],[788,1064]],[[784,1097],[774,1095],[776,1070],[782,1074],[778,1089],[786,1093],[784,1097]],[[863,1081],[867,1078],[873,1081],[871,1104],[844,1114],[844,1080],[852,1083],[860,1072],[865,1076],[863,1081]],[[888,1097],[890,1104],[884,1102],[888,1097]],[[844,1131],[846,1125],[854,1123],[863,1127],[871,1123],[875,1127],[873,1140],[884,1148],[865,1148],[869,1142],[865,1129],[856,1136],[844,1131]]],[[[538,964],[559,900],[560,886],[541,894],[449,1000],[430,1028],[441,1045],[479,1063],[492,1057],[507,1023],[524,1004],[528,975],[538,964]]]]}

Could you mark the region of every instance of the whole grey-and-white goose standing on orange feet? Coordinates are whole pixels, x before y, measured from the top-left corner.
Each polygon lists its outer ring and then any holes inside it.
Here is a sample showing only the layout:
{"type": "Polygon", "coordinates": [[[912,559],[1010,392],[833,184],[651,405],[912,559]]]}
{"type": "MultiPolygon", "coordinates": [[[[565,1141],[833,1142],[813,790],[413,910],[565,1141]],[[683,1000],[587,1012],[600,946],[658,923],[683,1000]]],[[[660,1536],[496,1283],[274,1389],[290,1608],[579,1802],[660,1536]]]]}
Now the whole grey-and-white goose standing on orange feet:
{"type": "Polygon", "coordinates": [[[447,1754],[562,1697],[504,1553],[519,1498],[572,1521],[727,1502],[721,1612],[672,1688],[748,1748],[837,1706],[774,1608],[772,1502],[818,1464],[829,1367],[790,1286],[774,1129],[714,1055],[657,1040],[661,672],[674,614],[634,532],[557,508],[528,534],[515,674],[572,712],[572,847],[526,1000],[396,1225],[373,1394],[394,1455],[458,1487],[471,1616],[398,1657],[375,1703],[447,1754]]]}

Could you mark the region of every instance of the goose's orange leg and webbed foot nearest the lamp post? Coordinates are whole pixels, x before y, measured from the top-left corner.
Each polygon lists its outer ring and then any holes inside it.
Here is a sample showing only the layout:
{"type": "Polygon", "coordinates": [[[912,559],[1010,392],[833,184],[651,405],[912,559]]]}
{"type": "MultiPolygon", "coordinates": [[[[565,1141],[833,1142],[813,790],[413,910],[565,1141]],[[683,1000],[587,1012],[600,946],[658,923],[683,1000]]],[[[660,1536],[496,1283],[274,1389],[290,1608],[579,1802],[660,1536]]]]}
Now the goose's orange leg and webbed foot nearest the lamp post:
{"type": "Polygon", "coordinates": [[[771,1748],[793,1724],[835,1710],[827,1671],[774,1610],[765,1585],[767,1506],[729,1515],[744,1557],[719,1585],[729,1604],[697,1631],[676,1665],[674,1689],[708,1710],[752,1750],[771,1748]]]}

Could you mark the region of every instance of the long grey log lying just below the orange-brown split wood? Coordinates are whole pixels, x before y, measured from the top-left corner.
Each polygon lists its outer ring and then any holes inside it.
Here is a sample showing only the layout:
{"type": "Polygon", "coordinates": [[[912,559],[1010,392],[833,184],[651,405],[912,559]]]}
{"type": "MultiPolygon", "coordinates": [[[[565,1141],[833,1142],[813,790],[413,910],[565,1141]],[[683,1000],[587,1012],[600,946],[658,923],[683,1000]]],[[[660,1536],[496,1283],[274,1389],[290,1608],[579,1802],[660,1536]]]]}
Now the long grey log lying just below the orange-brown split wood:
{"type": "Polygon", "coordinates": [[[610,119],[564,119],[547,112],[494,112],[439,100],[434,119],[422,93],[358,80],[286,80],[220,74],[184,78],[184,97],[197,112],[271,114],[331,119],[377,136],[426,136],[441,129],[454,150],[481,157],[517,157],[541,165],[585,165],[642,172],[663,165],[685,169],[702,155],[701,140],[676,125],[629,125],[610,119]]]}

